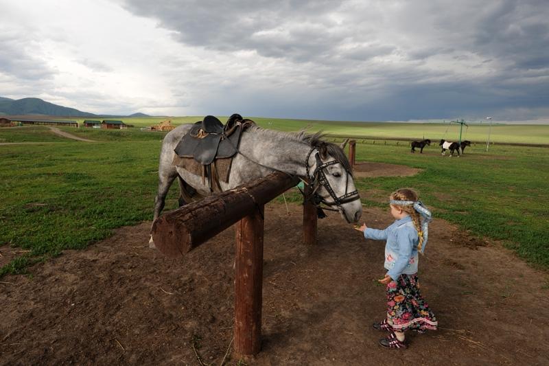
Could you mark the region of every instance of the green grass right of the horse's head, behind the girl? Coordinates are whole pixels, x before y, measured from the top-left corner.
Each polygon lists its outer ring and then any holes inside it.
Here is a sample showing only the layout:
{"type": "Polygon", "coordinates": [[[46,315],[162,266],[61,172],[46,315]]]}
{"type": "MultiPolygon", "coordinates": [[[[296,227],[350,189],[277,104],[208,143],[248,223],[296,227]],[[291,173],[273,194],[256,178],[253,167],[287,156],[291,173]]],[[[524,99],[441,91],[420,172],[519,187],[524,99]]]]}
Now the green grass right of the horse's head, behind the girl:
{"type": "Polygon", "coordinates": [[[369,200],[369,191],[388,197],[398,188],[412,187],[432,207],[435,217],[475,236],[501,240],[522,258],[549,268],[546,148],[493,146],[485,152],[471,147],[460,158],[442,157],[430,150],[419,155],[401,146],[358,144],[358,160],[423,169],[415,176],[358,179],[362,201],[385,207],[385,203],[369,200]]]}

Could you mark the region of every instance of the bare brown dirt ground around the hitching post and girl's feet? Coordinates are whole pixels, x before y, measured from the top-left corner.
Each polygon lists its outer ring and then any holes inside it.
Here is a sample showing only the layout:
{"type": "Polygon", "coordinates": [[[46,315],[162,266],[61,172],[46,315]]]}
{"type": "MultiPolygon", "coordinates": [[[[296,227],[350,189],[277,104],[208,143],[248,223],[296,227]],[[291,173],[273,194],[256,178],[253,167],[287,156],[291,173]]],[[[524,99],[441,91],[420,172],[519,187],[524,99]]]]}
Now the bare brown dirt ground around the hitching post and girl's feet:
{"type": "MultiPolygon", "coordinates": [[[[262,350],[247,365],[549,364],[548,273],[443,220],[419,264],[440,329],[384,350],[371,328],[386,306],[384,242],[328,215],[305,247],[302,207],[266,207],[262,350]]],[[[382,209],[362,217],[393,222],[382,209]]],[[[220,365],[228,350],[236,365],[234,230],[172,260],[148,248],[150,224],[1,279],[0,365],[200,365],[197,354],[220,365]]]]}

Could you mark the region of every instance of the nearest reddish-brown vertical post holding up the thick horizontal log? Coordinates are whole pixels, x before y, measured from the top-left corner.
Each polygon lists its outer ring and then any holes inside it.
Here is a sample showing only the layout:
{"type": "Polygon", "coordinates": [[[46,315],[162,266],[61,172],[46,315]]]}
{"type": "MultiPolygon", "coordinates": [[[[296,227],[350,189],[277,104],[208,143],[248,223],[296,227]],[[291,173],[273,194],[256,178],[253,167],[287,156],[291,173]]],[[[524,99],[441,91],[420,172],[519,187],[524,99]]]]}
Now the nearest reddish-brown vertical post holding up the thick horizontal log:
{"type": "Polygon", "coordinates": [[[236,224],[235,354],[261,350],[264,206],[236,224]]]}

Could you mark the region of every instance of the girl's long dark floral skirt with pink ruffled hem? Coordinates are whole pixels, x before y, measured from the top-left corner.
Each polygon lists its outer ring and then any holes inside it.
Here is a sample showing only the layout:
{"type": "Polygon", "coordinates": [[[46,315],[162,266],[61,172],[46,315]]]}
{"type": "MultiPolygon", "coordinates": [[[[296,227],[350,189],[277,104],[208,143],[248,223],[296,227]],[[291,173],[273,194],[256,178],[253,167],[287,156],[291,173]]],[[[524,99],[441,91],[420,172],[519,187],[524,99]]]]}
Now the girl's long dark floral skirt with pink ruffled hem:
{"type": "Polygon", "coordinates": [[[393,329],[436,330],[439,324],[425,299],[419,293],[417,273],[400,275],[387,285],[387,320],[393,329]]]}

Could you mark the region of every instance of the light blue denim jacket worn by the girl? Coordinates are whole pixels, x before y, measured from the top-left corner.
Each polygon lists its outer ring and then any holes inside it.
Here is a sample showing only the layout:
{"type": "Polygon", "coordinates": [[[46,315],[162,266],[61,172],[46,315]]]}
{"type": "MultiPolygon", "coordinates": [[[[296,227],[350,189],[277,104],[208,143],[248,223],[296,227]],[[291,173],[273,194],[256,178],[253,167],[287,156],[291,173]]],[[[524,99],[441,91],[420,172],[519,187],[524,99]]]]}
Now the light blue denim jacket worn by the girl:
{"type": "Polygon", "coordinates": [[[417,244],[419,238],[410,216],[396,220],[385,230],[367,228],[364,238],[387,240],[385,244],[385,268],[387,274],[397,280],[401,274],[417,273],[417,244]]]}

